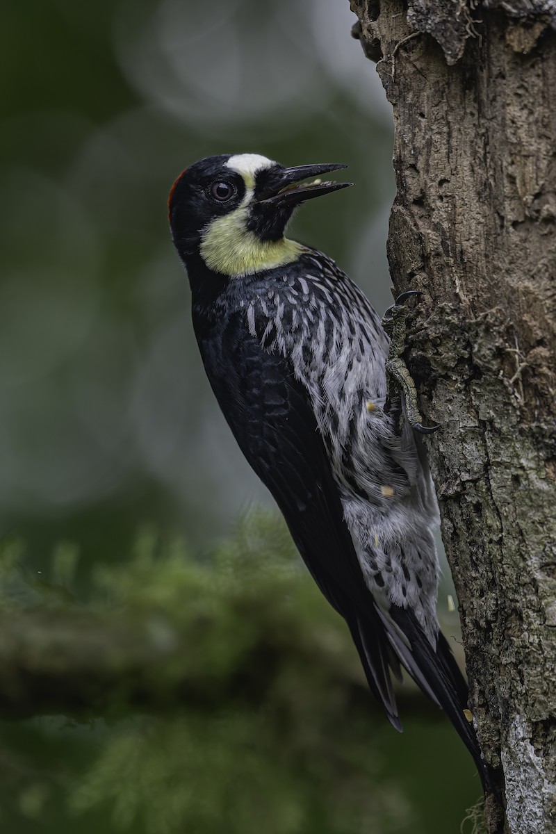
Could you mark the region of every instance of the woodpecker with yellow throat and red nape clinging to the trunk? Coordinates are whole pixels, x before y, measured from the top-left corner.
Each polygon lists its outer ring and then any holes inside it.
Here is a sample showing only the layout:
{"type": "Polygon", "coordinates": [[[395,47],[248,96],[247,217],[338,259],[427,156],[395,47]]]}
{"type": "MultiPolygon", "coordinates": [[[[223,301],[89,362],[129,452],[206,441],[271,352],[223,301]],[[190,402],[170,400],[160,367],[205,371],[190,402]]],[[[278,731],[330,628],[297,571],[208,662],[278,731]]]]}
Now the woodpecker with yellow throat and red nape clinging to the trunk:
{"type": "Polygon", "coordinates": [[[396,405],[388,379],[402,351],[387,322],[404,305],[383,324],[332,259],[285,235],[302,203],[353,184],[323,180],[346,167],[203,158],[171,188],[173,244],[213,393],[346,621],[370,690],[401,731],[393,677],[407,671],[447,713],[486,792],[468,686],[438,625],[438,505],[423,426],[408,419],[408,389],[396,405]]]}

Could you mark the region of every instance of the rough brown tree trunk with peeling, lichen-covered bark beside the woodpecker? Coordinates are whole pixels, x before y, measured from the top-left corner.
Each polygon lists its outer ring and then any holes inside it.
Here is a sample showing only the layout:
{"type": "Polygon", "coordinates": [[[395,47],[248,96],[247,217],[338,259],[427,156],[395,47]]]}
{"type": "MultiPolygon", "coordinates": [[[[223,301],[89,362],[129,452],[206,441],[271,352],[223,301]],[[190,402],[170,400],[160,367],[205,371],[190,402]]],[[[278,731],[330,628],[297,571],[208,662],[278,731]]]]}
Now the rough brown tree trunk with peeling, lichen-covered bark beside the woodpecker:
{"type": "Polygon", "coordinates": [[[396,293],[506,817],[556,831],[556,3],[352,0],[393,104],[396,293]],[[499,8],[494,9],[494,6],[499,8]],[[528,13],[528,17],[525,14],[528,13]]]}

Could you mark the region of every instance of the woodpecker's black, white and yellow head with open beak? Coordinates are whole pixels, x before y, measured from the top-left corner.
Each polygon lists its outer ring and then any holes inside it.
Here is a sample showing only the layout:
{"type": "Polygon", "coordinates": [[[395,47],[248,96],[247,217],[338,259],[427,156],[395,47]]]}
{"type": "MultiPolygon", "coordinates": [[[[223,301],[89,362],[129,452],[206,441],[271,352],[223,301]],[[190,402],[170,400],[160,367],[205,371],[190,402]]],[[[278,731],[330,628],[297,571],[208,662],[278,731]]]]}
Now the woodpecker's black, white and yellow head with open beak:
{"type": "Polygon", "coordinates": [[[320,178],[345,167],[284,168],[256,153],[201,159],[180,174],[168,198],[178,253],[186,263],[189,256],[200,254],[209,269],[224,275],[288,263],[299,249],[283,236],[294,208],[351,185],[320,178]]]}

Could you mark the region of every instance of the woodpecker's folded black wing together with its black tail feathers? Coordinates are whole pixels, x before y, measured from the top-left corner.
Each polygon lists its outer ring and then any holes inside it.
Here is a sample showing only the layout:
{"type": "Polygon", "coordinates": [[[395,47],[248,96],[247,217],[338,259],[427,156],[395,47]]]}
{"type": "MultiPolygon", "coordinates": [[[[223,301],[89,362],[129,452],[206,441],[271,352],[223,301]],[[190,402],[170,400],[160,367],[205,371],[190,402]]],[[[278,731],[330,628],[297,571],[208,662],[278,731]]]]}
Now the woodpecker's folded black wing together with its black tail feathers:
{"type": "Polygon", "coordinates": [[[398,730],[390,676],[407,669],[448,713],[471,751],[483,786],[492,787],[472,727],[463,715],[467,685],[443,636],[433,647],[411,611],[378,608],[365,583],[307,389],[288,360],[264,349],[230,314],[218,338],[199,347],[208,379],[248,463],[268,487],[293,540],[330,605],[348,623],[368,685],[398,730]]]}

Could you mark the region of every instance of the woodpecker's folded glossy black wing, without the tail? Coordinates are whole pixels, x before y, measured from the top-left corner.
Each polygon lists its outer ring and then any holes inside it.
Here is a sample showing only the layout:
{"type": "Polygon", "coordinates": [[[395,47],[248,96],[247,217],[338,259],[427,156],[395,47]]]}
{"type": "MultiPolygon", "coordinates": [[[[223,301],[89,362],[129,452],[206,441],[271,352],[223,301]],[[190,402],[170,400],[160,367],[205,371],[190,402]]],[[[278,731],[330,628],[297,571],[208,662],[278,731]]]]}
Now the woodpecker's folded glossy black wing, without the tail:
{"type": "Polygon", "coordinates": [[[208,379],[248,463],[268,487],[318,587],[347,620],[371,690],[401,725],[390,664],[398,662],[363,578],[307,390],[283,356],[261,347],[242,317],[199,339],[208,379]]]}

